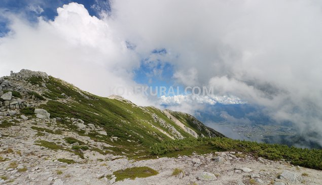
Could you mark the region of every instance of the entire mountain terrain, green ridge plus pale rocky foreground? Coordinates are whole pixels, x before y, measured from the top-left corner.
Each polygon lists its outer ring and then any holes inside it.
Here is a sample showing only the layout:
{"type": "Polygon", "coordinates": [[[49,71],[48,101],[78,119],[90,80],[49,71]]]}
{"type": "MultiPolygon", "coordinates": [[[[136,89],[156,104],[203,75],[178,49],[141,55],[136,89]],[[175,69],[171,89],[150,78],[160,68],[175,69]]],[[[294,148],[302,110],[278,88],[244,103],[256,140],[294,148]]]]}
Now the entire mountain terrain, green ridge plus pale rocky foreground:
{"type": "Polygon", "coordinates": [[[0,96],[0,184],[322,184],[318,165],[237,151],[192,115],[98,97],[44,72],[11,72],[0,96]]]}

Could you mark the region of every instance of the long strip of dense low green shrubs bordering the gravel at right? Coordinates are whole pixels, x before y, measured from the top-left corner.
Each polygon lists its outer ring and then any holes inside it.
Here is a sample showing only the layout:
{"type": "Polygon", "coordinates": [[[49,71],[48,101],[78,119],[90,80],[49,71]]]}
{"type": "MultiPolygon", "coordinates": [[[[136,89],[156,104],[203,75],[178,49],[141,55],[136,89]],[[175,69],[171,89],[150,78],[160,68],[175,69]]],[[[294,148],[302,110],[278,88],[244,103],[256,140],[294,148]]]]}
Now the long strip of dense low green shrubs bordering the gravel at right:
{"type": "Polygon", "coordinates": [[[284,159],[291,161],[293,165],[303,167],[322,169],[322,150],[301,149],[288,147],[286,145],[265,144],[257,142],[248,142],[232,140],[224,137],[199,138],[164,141],[151,147],[151,155],[171,155],[176,152],[180,154],[185,150],[198,146],[207,147],[213,151],[236,151],[246,154],[252,154],[255,157],[263,157],[269,160],[284,159]]]}

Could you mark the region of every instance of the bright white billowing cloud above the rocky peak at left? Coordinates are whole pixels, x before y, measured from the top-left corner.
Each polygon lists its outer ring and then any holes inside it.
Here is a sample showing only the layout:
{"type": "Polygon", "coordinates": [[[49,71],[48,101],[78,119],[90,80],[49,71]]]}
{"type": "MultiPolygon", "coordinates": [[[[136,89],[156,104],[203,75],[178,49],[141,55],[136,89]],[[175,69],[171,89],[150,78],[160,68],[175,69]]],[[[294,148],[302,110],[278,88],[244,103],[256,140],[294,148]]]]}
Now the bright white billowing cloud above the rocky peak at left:
{"type": "MultiPolygon", "coordinates": [[[[57,13],[53,21],[40,17],[37,24],[7,16],[12,31],[0,38],[2,76],[23,68],[45,71],[105,97],[111,86],[136,85],[131,71],[139,60],[108,22],[90,16],[77,3],[64,5],[57,13]]],[[[140,95],[126,98],[153,104],[140,95]]]]}

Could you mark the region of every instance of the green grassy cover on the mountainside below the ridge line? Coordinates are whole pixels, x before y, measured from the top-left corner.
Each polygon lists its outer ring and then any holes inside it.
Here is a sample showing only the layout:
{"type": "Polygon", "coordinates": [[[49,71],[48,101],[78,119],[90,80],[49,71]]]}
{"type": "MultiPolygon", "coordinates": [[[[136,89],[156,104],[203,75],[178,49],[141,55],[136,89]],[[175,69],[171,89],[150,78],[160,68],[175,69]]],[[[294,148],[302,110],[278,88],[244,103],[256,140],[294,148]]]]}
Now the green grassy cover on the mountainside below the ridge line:
{"type": "MultiPolygon", "coordinates": [[[[32,84],[46,83],[49,90],[43,92],[41,96],[46,97],[49,101],[41,107],[47,110],[52,118],[74,117],[82,119],[86,124],[99,125],[104,128],[107,135],[98,136],[97,133],[93,132],[89,133],[88,136],[95,140],[118,146],[118,148],[109,148],[110,150],[116,150],[116,154],[124,152],[133,155],[134,152],[141,151],[136,155],[145,155],[148,153],[148,148],[153,144],[164,140],[171,140],[166,134],[152,126],[161,128],[173,136],[171,132],[160,125],[159,121],[156,122],[153,119],[152,114],[156,114],[166,123],[171,124],[184,137],[192,137],[167,118],[159,109],[152,107],[142,108],[126,100],[115,100],[91,95],[54,77],[49,77],[49,79],[32,78],[29,81],[32,84]],[[110,140],[111,136],[117,136],[119,140],[112,142],[110,140]],[[134,142],[129,143],[127,140],[134,142]]],[[[77,131],[76,126],[64,121],[64,119],[59,123],[61,126],[77,131]]],[[[85,131],[77,132],[83,135],[85,131]]],[[[200,131],[196,132],[201,134],[200,131]]]]}

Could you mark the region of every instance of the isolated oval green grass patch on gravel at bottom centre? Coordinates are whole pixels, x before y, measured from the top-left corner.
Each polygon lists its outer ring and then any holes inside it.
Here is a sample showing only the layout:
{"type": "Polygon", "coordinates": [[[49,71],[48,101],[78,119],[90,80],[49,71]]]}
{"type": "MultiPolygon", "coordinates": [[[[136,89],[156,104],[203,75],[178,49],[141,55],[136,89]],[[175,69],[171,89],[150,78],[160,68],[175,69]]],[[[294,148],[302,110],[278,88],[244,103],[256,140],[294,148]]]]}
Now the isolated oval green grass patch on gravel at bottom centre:
{"type": "Polygon", "coordinates": [[[153,175],[157,175],[158,172],[147,166],[126,168],[124,170],[118,170],[113,173],[116,176],[116,181],[124,180],[126,178],[145,178],[153,175]]]}

